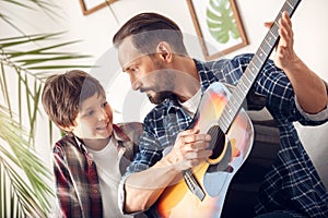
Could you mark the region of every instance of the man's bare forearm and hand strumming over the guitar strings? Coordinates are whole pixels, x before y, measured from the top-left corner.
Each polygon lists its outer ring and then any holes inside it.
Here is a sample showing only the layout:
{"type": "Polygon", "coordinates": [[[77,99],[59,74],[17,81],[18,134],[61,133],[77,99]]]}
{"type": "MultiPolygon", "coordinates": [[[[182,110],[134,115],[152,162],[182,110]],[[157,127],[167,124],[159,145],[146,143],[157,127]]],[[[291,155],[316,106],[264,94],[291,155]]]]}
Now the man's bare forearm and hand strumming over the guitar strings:
{"type": "Polygon", "coordinates": [[[179,179],[180,172],[203,161],[212,152],[207,150],[211,137],[187,130],[178,134],[172,150],[149,169],[128,175],[125,183],[125,213],[151,207],[165,187],[179,179]]]}

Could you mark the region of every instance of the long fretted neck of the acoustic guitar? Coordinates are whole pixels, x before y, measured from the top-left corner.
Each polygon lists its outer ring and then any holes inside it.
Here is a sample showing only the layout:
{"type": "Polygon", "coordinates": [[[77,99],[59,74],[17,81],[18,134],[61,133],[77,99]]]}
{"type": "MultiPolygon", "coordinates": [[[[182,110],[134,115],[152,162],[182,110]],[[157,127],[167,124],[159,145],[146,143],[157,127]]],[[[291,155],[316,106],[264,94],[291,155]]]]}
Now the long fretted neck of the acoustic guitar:
{"type": "Polygon", "coordinates": [[[265,39],[260,44],[260,47],[251,58],[248,66],[246,68],[243,76],[241,77],[236,88],[232,93],[227,105],[225,106],[221,119],[219,120],[219,126],[224,133],[227,133],[231,123],[238,113],[244,99],[246,98],[249,89],[251,88],[257,75],[262,70],[266,61],[270,57],[278,39],[279,39],[279,20],[283,11],[286,11],[290,17],[293,15],[301,0],[286,0],[277,15],[272,26],[268,31],[265,39]]]}

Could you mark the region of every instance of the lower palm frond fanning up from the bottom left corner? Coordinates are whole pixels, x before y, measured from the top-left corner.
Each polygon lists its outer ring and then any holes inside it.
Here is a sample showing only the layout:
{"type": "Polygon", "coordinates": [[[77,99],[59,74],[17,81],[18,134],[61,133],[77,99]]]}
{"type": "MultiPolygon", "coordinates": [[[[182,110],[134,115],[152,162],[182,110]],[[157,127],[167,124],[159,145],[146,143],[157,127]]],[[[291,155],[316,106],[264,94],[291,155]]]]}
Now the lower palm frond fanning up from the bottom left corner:
{"type": "Polygon", "coordinates": [[[46,180],[50,181],[50,170],[31,150],[30,134],[19,122],[13,122],[3,107],[0,107],[0,216],[8,217],[11,211],[17,217],[47,217],[50,204],[45,196],[54,196],[52,190],[45,185],[46,180]],[[8,204],[9,198],[14,204],[8,204]]]}

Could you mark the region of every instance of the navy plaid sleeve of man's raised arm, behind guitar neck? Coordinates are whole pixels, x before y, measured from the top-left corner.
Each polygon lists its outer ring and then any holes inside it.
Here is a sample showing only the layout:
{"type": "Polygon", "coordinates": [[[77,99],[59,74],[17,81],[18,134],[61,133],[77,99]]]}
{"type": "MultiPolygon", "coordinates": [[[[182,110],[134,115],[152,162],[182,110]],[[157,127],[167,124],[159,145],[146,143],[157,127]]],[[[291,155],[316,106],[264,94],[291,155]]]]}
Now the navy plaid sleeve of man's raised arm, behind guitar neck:
{"type": "MultiPolygon", "coordinates": [[[[222,70],[224,77],[221,80],[236,85],[253,56],[253,53],[244,53],[231,59],[230,63],[225,64],[222,70]]],[[[266,97],[266,106],[271,114],[282,121],[284,120],[284,122],[288,120],[304,125],[318,125],[327,121],[327,108],[316,114],[309,114],[302,110],[289,77],[270,59],[257,75],[253,88],[256,93],[266,97]]]]}

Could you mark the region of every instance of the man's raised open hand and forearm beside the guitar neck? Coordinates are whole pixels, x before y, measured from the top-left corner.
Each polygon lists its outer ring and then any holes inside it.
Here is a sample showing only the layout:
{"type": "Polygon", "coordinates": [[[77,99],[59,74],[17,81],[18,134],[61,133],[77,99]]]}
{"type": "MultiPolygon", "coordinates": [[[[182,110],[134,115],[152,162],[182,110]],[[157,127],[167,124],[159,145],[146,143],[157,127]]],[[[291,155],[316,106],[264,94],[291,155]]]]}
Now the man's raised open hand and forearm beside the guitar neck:
{"type": "MultiPolygon", "coordinates": [[[[265,23],[267,27],[272,22],[265,23]]],[[[276,49],[274,64],[290,78],[301,108],[307,113],[318,113],[328,105],[324,81],[296,56],[292,22],[286,12],[279,20],[279,44],[276,49]]]]}

